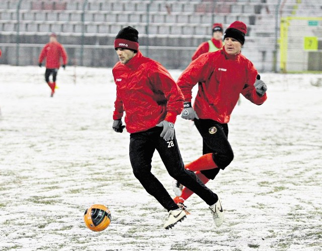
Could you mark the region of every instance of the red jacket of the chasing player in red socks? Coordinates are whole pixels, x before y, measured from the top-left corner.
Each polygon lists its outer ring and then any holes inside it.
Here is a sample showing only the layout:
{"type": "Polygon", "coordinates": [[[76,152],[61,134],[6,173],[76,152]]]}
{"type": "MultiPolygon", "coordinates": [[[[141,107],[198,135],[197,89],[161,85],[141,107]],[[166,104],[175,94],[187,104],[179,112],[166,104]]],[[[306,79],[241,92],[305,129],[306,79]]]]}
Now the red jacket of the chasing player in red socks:
{"type": "Polygon", "coordinates": [[[257,105],[267,99],[266,93],[263,97],[256,93],[257,74],[252,62],[244,55],[228,55],[223,48],[192,61],[177,83],[186,102],[191,102],[191,90],[196,83],[199,84],[194,103],[199,118],[228,123],[240,93],[257,105]]]}

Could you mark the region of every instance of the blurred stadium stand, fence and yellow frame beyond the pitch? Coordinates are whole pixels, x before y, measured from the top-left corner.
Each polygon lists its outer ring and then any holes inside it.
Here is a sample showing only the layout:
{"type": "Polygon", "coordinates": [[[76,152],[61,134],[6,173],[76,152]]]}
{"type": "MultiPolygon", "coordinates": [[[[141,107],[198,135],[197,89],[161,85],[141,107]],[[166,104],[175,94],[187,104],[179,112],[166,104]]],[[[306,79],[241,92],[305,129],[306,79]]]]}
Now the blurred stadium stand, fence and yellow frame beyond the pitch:
{"type": "Polygon", "coordinates": [[[115,36],[130,25],[145,56],[184,69],[212,23],[235,20],[248,26],[242,53],[259,72],[322,71],[320,0],[0,0],[0,64],[37,65],[55,32],[68,65],[113,67],[115,36]]]}

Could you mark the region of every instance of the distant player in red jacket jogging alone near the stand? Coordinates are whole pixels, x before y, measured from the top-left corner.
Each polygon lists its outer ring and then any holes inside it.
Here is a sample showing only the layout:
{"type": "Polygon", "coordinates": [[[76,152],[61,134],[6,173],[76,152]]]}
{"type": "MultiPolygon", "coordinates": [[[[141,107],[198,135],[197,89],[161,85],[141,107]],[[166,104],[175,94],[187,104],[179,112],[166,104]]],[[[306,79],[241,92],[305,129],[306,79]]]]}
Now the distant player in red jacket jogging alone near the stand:
{"type": "Polygon", "coordinates": [[[67,64],[67,54],[64,47],[57,42],[57,35],[55,33],[51,33],[49,37],[49,43],[47,43],[44,48],[41,50],[39,56],[39,67],[42,66],[42,61],[46,57],[46,72],[45,72],[45,80],[48,86],[51,89],[51,97],[53,97],[55,93],[56,87],[56,77],[57,72],[60,67],[60,58],[62,58],[62,68],[65,70],[67,64]],[[52,75],[52,82],[49,82],[49,77],[52,75]]]}

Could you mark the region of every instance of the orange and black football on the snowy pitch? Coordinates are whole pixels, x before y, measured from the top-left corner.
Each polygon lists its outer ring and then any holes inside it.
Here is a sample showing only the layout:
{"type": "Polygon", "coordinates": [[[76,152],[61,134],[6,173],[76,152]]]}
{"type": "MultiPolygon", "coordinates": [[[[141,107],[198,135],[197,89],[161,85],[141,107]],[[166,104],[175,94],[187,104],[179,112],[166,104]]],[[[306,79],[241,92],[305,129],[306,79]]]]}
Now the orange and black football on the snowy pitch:
{"type": "Polygon", "coordinates": [[[86,226],[92,231],[103,231],[111,223],[111,212],[104,205],[94,204],[86,209],[84,221],[86,226]]]}

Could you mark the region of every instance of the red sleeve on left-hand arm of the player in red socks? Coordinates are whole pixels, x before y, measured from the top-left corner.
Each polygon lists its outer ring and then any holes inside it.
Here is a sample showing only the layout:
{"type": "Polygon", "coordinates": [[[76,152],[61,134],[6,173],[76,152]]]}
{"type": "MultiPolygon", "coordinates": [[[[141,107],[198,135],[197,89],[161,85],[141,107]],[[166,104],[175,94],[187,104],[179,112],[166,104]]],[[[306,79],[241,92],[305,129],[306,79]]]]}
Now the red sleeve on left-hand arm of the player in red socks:
{"type": "Polygon", "coordinates": [[[211,64],[214,60],[209,60],[209,57],[209,53],[202,54],[193,60],[179,77],[177,84],[185,97],[185,102],[191,102],[192,88],[198,82],[206,81],[214,70],[211,64]]]}

